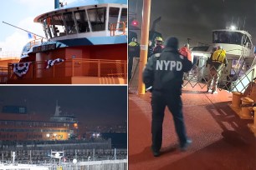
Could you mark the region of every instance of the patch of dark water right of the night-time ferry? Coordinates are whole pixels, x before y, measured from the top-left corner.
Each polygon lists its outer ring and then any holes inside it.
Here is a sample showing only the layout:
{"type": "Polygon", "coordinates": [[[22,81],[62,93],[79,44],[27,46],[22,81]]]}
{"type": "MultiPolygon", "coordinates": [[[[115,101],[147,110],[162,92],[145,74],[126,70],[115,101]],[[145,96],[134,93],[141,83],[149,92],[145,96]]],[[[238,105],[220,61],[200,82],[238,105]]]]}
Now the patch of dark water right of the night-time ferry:
{"type": "Polygon", "coordinates": [[[112,148],[127,148],[127,133],[101,133],[102,138],[111,138],[112,148]]]}

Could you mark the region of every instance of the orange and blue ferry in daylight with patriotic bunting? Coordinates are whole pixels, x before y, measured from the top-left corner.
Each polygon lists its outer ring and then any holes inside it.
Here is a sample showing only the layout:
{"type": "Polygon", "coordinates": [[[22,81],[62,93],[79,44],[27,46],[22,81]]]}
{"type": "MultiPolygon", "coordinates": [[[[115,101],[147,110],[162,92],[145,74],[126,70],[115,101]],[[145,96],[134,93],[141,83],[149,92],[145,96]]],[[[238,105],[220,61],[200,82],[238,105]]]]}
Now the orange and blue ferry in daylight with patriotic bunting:
{"type": "Polygon", "coordinates": [[[20,61],[8,64],[7,83],[127,82],[126,0],[55,0],[54,11],[34,22],[45,38],[28,42],[20,61]]]}

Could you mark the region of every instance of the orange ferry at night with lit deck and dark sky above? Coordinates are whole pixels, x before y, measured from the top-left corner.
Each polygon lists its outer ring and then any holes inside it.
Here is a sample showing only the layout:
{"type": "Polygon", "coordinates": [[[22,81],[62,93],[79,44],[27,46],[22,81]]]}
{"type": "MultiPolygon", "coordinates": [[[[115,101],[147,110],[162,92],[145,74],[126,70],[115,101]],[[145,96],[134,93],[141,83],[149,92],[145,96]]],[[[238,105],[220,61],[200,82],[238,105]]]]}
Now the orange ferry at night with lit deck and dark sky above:
{"type": "Polygon", "coordinates": [[[55,113],[49,119],[28,114],[25,106],[3,106],[0,112],[0,141],[64,141],[78,136],[78,120],[74,115],[55,113]]]}

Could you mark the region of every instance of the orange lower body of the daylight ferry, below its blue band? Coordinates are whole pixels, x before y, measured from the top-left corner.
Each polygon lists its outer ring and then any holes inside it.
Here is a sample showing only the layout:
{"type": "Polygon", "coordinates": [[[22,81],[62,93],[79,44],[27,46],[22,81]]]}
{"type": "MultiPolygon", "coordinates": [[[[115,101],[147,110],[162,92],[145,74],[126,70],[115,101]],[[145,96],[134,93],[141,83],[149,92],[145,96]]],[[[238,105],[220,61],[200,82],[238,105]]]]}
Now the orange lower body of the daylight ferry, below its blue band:
{"type": "Polygon", "coordinates": [[[54,84],[126,84],[127,45],[95,45],[57,48],[32,53],[21,62],[32,62],[26,75],[13,74],[9,65],[8,83],[54,84]],[[46,61],[57,58],[65,62],[46,69],[46,61]]]}

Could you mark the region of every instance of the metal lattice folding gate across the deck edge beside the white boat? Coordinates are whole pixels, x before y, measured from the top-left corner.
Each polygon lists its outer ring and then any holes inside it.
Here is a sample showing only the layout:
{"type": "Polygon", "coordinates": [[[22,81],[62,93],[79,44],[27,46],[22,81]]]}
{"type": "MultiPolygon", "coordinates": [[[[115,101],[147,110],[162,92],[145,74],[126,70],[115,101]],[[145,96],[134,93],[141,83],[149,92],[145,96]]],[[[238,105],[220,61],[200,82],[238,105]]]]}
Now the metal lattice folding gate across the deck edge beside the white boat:
{"type": "Polygon", "coordinates": [[[222,67],[216,70],[215,67],[207,67],[207,58],[199,57],[190,72],[184,74],[185,82],[183,86],[190,85],[192,87],[199,86],[201,88],[212,86],[214,77],[218,77],[218,89],[228,90],[229,92],[244,92],[253,78],[256,77],[256,65],[246,67],[245,61],[233,64],[232,60],[228,60],[228,67],[222,67]],[[210,73],[215,70],[215,73],[210,73]]]}

